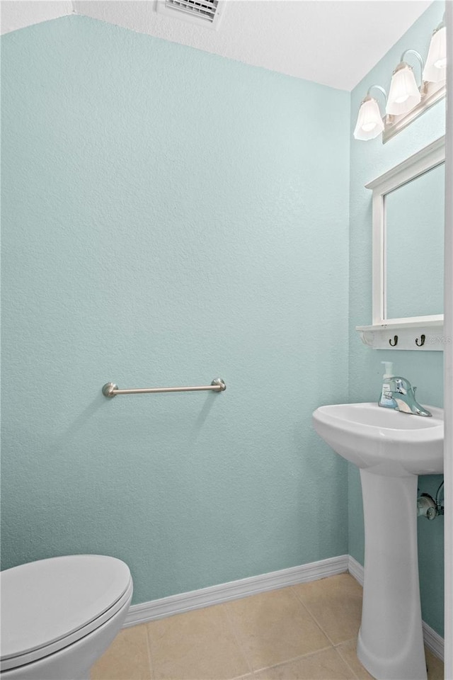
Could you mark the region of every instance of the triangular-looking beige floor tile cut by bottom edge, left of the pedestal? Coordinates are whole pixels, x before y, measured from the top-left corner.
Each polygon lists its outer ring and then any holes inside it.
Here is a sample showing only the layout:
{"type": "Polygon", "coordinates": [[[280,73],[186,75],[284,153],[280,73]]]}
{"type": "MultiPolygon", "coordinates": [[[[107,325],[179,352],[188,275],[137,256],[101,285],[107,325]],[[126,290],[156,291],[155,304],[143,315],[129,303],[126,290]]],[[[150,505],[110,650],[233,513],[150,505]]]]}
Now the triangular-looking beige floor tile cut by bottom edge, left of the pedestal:
{"type": "Polygon", "coordinates": [[[287,664],[255,674],[256,680],[355,680],[336,650],[331,647],[287,664]]]}

